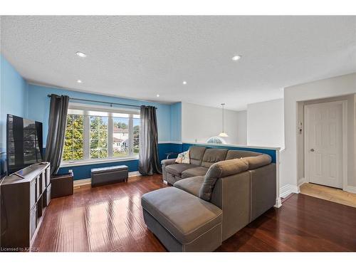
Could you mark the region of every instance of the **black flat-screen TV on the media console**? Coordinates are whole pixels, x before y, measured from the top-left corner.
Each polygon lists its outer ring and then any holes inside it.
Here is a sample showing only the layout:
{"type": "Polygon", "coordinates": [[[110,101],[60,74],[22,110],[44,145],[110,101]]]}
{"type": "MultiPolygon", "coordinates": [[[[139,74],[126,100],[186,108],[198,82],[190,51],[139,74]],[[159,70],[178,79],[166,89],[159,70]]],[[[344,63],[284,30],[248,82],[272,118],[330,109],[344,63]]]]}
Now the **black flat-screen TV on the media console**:
{"type": "Polygon", "coordinates": [[[42,122],[7,115],[6,120],[6,166],[7,174],[41,162],[42,122]]]}

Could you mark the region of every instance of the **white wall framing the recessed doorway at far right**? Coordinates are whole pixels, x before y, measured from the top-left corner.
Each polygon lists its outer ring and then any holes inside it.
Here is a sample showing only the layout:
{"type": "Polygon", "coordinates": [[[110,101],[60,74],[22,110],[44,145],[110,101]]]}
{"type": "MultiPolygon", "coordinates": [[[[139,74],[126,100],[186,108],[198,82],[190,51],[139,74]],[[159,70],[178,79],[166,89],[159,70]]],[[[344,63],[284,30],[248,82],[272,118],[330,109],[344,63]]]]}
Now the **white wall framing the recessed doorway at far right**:
{"type": "Polygon", "coordinates": [[[280,179],[281,187],[288,184],[295,187],[298,186],[297,102],[332,98],[352,93],[356,93],[356,73],[290,86],[284,89],[285,151],[283,152],[284,166],[281,168],[283,170],[280,179]]]}

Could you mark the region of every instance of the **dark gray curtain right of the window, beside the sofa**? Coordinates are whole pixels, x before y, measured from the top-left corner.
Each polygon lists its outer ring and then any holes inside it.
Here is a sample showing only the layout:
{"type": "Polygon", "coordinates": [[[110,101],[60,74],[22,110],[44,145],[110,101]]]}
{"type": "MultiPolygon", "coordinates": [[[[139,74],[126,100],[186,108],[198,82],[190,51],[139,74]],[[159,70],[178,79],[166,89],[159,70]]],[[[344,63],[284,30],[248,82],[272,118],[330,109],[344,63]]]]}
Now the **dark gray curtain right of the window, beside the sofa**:
{"type": "Polygon", "coordinates": [[[156,108],[141,106],[140,152],[138,171],[141,175],[162,174],[158,157],[156,108]]]}

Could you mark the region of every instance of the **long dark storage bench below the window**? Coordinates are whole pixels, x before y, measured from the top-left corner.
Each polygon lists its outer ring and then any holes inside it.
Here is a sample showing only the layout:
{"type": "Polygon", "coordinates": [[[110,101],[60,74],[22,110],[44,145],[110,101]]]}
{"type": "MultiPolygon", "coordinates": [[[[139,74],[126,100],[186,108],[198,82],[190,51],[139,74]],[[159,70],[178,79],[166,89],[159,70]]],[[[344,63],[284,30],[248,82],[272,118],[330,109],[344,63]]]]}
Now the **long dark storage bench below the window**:
{"type": "Polygon", "coordinates": [[[127,182],[129,168],[126,165],[102,167],[90,170],[91,186],[96,187],[103,184],[127,182]]]}

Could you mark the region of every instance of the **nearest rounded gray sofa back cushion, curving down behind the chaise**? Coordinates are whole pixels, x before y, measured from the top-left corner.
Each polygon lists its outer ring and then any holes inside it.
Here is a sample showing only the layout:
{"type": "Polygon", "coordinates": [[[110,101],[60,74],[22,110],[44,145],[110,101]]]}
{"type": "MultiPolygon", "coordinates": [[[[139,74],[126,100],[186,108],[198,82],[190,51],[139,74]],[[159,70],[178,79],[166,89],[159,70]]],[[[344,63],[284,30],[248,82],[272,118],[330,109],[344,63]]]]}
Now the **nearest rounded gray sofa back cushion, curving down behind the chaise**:
{"type": "Polygon", "coordinates": [[[208,172],[205,174],[199,197],[209,201],[217,179],[239,174],[240,172],[245,172],[247,169],[248,162],[244,159],[230,159],[212,164],[208,172]]]}

